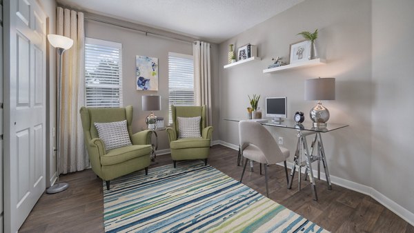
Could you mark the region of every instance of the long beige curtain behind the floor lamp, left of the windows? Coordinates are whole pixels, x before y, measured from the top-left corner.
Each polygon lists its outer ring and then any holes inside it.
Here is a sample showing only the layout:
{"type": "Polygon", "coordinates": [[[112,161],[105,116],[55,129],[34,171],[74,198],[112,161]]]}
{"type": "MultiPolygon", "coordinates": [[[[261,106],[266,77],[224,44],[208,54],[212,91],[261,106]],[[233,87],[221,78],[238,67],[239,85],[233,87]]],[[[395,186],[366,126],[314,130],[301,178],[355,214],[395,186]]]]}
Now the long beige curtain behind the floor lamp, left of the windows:
{"type": "Polygon", "coordinates": [[[85,102],[83,13],[58,7],[56,31],[73,39],[72,48],[63,53],[61,122],[58,125],[61,129],[59,170],[66,174],[89,166],[79,115],[79,109],[85,102]]]}

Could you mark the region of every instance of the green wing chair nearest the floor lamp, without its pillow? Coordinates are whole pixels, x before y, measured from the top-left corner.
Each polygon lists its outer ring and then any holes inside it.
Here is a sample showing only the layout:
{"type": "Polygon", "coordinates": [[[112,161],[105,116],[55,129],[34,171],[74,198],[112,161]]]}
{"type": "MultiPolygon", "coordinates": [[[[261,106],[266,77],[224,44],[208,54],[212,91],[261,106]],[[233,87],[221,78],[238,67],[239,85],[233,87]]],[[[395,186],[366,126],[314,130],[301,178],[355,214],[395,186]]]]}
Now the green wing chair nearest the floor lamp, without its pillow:
{"type": "Polygon", "coordinates": [[[110,180],[145,168],[148,174],[150,155],[152,152],[150,130],[132,134],[132,106],[126,108],[85,108],[80,110],[85,145],[88,149],[92,170],[110,188],[110,180]],[[99,139],[94,123],[127,121],[128,134],[132,145],[106,150],[102,139],[99,139]]]}

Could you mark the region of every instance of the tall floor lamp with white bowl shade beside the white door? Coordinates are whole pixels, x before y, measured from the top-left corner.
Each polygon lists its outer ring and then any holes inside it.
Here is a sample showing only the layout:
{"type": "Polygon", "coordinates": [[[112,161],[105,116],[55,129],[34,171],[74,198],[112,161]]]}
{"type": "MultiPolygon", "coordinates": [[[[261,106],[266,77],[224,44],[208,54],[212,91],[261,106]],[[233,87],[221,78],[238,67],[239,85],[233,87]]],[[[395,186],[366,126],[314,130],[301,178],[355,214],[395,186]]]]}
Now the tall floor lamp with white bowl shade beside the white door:
{"type": "Polygon", "coordinates": [[[62,54],[65,52],[65,50],[70,49],[73,45],[73,40],[68,37],[59,36],[57,34],[48,34],[48,41],[50,45],[55,47],[57,49],[57,53],[59,54],[59,77],[57,77],[57,107],[56,107],[56,122],[57,122],[57,128],[56,128],[56,173],[57,173],[57,179],[54,185],[50,186],[46,193],[48,194],[54,194],[57,192],[62,192],[66,190],[69,187],[68,183],[59,183],[59,164],[60,164],[60,110],[61,110],[61,78],[62,78],[62,54]]]}

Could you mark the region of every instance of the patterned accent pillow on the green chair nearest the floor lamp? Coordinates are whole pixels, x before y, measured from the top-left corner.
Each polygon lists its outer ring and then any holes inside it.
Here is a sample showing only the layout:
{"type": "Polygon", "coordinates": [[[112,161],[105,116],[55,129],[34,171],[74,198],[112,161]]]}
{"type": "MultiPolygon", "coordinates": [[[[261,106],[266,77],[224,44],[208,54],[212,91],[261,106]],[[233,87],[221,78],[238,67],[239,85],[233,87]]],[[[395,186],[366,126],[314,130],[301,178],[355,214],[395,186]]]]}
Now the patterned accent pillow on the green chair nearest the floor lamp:
{"type": "Polygon", "coordinates": [[[106,150],[132,145],[126,128],[126,120],[93,124],[98,130],[99,139],[105,143],[106,150]]]}

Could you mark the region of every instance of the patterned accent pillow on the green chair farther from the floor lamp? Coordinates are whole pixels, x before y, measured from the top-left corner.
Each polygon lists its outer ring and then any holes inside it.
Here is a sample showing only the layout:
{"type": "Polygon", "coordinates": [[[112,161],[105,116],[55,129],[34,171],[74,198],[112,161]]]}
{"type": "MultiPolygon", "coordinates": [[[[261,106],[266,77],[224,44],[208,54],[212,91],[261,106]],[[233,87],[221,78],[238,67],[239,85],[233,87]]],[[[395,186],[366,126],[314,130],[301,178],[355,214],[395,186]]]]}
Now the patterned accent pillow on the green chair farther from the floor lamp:
{"type": "Polygon", "coordinates": [[[177,117],[178,138],[201,138],[201,117],[177,117]]]}

